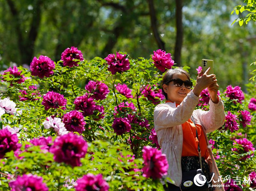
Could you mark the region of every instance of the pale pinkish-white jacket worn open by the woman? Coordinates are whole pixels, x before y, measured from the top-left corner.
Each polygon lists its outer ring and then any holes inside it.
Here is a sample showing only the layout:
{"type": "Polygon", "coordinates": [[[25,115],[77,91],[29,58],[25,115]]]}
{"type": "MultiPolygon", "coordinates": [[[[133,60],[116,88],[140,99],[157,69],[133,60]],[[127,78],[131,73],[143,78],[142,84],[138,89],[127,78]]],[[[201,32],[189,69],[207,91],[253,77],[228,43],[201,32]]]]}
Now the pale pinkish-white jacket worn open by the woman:
{"type": "MultiPolygon", "coordinates": [[[[154,110],[154,126],[157,134],[158,143],[161,146],[162,153],[166,155],[169,169],[165,177],[175,181],[176,186],[181,184],[181,153],[183,143],[183,131],[181,124],[188,121],[193,115],[196,124],[201,125],[207,142],[209,158],[207,162],[210,166],[210,171],[215,175],[213,180],[217,181],[220,173],[216,166],[214,157],[212,155],[211,147],[207,139],[206,133],[220,128],[225,121],[224,104],[219,97],[219,103],[215,104],[210,99],[209,111],[195,109],[198,104],[199,97],[193,91],[189,92],[184,100],[176,107],[176,103],[167,102],[158,104],[154,110]]],[[[165,178],[164,177],[164,178],[165,178]]],[[[162,182],[164,183],[164,182],[162,182]]],[[[212,184],[223,184],[222,182],[212,184]]],[[[223,190],[224,187],[215,187],[215,190],[223,190]]]]}

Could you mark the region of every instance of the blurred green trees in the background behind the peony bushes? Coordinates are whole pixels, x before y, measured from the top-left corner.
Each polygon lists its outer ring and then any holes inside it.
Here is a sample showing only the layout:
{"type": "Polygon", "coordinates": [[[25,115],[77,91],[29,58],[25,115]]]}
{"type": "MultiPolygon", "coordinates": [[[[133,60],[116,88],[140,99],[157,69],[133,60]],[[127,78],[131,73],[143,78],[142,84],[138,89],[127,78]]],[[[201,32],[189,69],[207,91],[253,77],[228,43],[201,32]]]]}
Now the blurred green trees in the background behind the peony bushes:
{"type": "MultiPolygon", "coordinates": [[[[33,57],[60,60],[75,46],[87,60],[126,51],[132,58],[156,49],[191,67],[214,60],[220,90],[244,84],[255,61],[256,28],[231,23],[241,0],[0,0],[0,70],[33,57]],[[10,63],[11,62],[11,63],[10,63]]],[[[243,14],[243,13],[241,13],[243,14]]]]}

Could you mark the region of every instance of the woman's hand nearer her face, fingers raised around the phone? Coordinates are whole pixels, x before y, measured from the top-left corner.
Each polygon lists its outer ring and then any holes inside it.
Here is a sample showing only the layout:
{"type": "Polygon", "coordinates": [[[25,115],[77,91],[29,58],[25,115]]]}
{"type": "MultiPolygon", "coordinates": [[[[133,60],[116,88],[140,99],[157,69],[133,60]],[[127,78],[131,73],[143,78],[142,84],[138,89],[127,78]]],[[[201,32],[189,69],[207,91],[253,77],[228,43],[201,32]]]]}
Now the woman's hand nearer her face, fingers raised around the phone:
{"type": "MultiPolygon", "coordinates": [[[[214,83],[217,83],[217,79],[216,76],[214,74],[211,75],[207,75],[209,70],[211,68],[208,68],[204,74],[203,74],[203,70],[201,70],[198,74],[198,76],[196,77],[196,85],[193,89],[194,94],[199,97],[200,93],[207,87],[211,86],[214,83]],[[203,74],[203,75],[202,75],[203,74]]],[[[218,91],[218,90],[217,90],[218,91]]]]}

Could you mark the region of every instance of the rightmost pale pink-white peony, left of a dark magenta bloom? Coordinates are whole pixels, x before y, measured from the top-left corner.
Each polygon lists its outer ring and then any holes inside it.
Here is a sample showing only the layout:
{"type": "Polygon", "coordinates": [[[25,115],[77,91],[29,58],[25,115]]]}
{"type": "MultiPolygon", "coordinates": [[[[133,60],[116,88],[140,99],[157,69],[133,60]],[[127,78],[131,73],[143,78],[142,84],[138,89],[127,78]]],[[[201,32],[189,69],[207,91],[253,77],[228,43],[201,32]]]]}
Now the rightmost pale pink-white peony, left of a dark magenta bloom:
{"type": "Polygon", "coordinates": [[[67,129],[64,127],[65,124],[61,122],[61,119],[58,117],[47,117],[43,122],[45,129],[53,128],[57,135],[65,135],[68,133],[67,129]]]}

